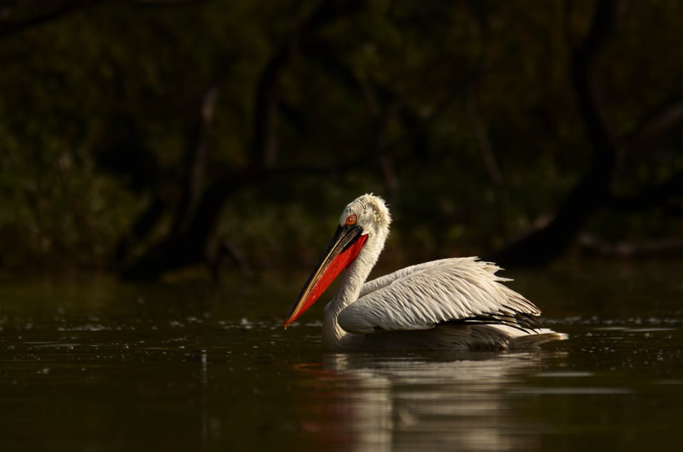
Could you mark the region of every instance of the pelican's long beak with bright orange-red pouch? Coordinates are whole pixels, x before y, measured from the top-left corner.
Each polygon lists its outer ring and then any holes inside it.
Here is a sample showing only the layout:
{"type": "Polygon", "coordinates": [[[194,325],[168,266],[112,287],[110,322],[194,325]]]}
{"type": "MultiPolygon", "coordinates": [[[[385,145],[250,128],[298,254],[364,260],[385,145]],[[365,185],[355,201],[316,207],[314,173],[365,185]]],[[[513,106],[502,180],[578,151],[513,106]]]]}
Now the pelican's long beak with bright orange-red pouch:
{"type": "Polygon", "coordinates": [[[339,226],[318,266],[309,276],[285,320],[285,330],[297,320],[332,284],[334,278],[354,261],[368,238],[360,226],[339,226]]]}

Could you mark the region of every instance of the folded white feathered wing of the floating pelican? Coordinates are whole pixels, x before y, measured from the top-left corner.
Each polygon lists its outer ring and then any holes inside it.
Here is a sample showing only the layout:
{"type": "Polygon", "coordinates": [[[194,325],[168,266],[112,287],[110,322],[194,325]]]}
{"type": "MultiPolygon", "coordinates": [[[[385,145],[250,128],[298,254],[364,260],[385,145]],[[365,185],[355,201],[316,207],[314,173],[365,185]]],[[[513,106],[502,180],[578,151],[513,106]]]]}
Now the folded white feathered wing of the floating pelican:
{"type": "Polygon", "coordinates": [[[477,258],[422,263],[371,280],[339,314],[351,333],[428,330],[448,322],[494,323],[533,329],[539,308],[503,285],[500,268],[477,258]]]}

